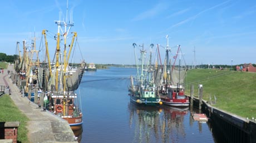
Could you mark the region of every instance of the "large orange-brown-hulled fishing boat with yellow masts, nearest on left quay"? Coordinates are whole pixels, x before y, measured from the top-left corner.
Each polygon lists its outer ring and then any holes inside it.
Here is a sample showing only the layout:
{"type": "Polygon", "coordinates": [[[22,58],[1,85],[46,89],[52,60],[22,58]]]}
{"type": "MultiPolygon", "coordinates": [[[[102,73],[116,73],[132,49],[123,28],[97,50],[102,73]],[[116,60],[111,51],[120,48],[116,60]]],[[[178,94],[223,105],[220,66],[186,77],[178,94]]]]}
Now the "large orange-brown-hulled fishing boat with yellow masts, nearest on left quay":
{"type": "Polygon", "coordinates": [[[80,130],[83,123],[81,99],[80,95],[76,93],[76,90],[80,85],[86,64],[83,62],[84,60],[80,64],[71,64],[70,55],[72,50],[76,48],[73,45],[75,41],[77,42],[77,33],[70,32],[73,26],[72,19],[68,22],[67,19],[66,21],[62,21],[61,19],[60,16],[60,19],[55,21],[58,27],[57,34],[55,35],[57,46],[54,54],[55,58],[52,63],[46,38],[48,31],[42,31],[42,35],[45,37],[48,60],[48,65],[45,65],[43,70],[43,82],[45,83],[43,87],[45,90],[44,102],[47,110],[67,120],[71,129],[74,131],[80,130]],[[68,39],[68,37],[71,37],[70,35],[72,35],[71,40],[68,39]],[[71,44],[67,44],[68,40],[71,44]]]}

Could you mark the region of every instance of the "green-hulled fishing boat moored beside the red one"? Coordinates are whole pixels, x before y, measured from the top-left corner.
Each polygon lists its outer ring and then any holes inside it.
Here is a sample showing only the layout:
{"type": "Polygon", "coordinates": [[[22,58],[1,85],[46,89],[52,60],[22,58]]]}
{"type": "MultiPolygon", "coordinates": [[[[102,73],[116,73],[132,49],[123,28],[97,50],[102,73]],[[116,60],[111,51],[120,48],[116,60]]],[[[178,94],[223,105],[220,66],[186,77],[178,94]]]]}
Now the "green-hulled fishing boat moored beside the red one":
{"type": "MultiPolygon", "coordinates": [[[[140,65],[137,64],[136,59],[136,52],[135,47],[136,44],[133,44],[134,46],[134,54],[135,54],[135,62],[137,67],[137,74],[135,78],[131,76],[131,85],[129,88],[130,92],[130,100],[132,103],[135,103],[137,105],[145,105],[145,106],[156,106],[161,105],[161,99],[159,96],[156,95],[156,86],[152,82],[151,79],[151,73],[152,73],[152,66],[151,66],[151,51],[150,51],[150,57],[149,61],[146,64],[145,62],[145,54],[146,50],[144,50],[144,45],[142,44],[142,49],[140,50],[140,65]],[[139,74],[140,73],[140,74],[139,74]]],[[[154,45],[151,44],[151,49],[154,45]]]]}

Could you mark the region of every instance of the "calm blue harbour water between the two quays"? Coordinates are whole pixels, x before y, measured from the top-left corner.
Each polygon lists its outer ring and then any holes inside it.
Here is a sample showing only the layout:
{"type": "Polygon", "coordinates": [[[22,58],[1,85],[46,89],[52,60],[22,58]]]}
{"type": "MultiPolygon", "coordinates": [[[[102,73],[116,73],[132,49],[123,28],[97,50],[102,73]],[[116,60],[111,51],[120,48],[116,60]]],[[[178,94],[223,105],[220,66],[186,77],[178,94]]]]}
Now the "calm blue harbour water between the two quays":
{"type": "Polygon", "coordinates": [[[129,77],[135,73],[113,67],[83,75],[81,142],[216,142],[209,124],[191,119],[192,109],[130,103],[129,77]]]}

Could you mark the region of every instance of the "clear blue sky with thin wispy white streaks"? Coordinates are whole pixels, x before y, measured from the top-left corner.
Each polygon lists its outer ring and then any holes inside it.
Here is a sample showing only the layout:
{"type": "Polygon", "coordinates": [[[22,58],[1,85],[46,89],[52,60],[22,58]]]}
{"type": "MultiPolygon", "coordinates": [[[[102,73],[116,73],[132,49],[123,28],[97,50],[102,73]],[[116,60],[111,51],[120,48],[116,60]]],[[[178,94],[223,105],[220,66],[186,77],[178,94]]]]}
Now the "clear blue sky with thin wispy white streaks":
{"type": "MultiPolygon", "coordinates": [[[[44,58],[42,30],[47,29],[53,57],[57,33],[54,21],[59,20],[60,12],[61,20],[66,21],[67,1],[10,0],[0,4],[0,53],[16,54],[16,42],[22,50],[22,41],[36,35],[36,47],[44,58]]],[[[68,17],[71,12],[74,26],[70,31],[77,32],[78,41],[78,52],[71,58],[76,61],[135,64],[132,43],[137,44],[137,52],[144,44],[147,53],[154,44],[153,55],[160,44],[163,61],[169,35],[170,55],[175,55],[177,45],[181,45],[188,65],[194,60],[196,64],[213,65],[256,63],[256,1],[69,0],[68,17]]]]}

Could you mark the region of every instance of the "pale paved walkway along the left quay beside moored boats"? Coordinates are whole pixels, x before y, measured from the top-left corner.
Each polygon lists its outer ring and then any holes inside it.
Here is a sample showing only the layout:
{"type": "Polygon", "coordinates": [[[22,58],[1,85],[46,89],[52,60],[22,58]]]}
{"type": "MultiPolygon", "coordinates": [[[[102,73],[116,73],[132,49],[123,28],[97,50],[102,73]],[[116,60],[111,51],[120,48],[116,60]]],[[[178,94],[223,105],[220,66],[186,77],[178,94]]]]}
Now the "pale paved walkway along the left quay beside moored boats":
{"type": "Polygon", "coordinates": [[[4,69],[3,74],[0,74],[0,85],[9,85],[12,100],[29,118],[27,122],[29,142],[77,142],[66,120],[52,115],[49,111],[42,111],[36,104],[21,96],[18,87],[9,78],[8,70],[14,72],[13,66],[9,65],[8,69],[4,69]]]}

